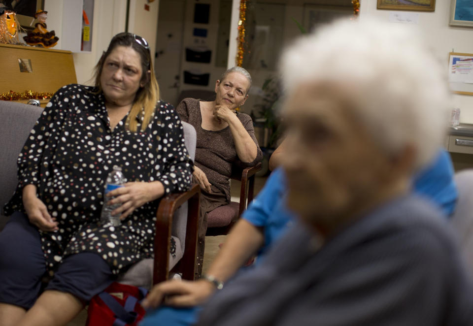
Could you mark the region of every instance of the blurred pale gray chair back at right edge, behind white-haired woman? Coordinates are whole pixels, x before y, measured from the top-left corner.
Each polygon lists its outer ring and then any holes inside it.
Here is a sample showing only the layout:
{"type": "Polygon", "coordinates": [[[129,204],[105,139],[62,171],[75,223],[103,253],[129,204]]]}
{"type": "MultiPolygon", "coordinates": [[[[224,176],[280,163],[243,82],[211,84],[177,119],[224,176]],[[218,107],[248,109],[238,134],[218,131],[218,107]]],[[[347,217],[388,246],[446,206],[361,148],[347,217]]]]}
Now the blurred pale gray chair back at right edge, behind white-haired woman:
{"type": "Polygon", "coordinates": [[[458,202],[451,219],[473,275],[473,169],[455,173],[458,202]]]}

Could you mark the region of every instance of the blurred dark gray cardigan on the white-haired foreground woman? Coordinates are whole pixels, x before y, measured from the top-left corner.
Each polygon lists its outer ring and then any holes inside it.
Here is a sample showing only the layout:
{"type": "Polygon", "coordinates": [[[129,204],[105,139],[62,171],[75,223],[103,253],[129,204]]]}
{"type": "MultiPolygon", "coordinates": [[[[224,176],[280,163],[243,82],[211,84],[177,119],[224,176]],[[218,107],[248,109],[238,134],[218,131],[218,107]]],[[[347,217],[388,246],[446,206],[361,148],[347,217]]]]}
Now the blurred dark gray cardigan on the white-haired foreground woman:
{"type": "Polygon", "coordinates": [[[398,198],[319,250],[296,225],[209,300],[198,325],[471,326],[472,280],[444,220],[398,198]]]}

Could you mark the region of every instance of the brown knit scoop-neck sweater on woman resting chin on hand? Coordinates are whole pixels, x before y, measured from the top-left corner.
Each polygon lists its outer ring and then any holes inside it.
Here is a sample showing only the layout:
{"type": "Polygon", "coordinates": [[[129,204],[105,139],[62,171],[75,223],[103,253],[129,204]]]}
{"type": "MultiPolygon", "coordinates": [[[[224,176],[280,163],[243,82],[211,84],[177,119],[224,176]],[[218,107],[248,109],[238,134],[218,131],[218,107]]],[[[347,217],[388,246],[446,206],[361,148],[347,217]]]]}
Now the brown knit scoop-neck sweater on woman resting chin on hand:
{"type": "Polygon", "coordinates": [[[220,189],[230,201],[230,176],[232,165],[244,168],[254,166],[263,159],[263,152],[258,146],[253,129],[253,121],[245,113],[237,112],[236,116],[258,148],[256,159],[250,163],[243,163],[236,154],[230,127],[218,131],[202,128],[202,114],[199,99],[184,98],[176,107],[177,114],[182,121],[190,123],[197,131],[197,148],[195,165],[207,176],[208,182],[220,189]]]}

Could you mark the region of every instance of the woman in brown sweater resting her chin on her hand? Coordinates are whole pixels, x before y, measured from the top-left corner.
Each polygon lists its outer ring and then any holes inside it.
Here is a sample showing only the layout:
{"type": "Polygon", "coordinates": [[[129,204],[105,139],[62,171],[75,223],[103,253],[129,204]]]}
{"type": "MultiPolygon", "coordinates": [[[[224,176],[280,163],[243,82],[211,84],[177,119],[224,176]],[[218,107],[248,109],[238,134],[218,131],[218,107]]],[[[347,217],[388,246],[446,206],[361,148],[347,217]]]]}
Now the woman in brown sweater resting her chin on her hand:
{"type": "Polygon", "coordinates": [[[232,166],[253,166],[263,158],[250,116],[236,111],[248,98],[250,87],[248,71],[233,67],[216,81],[214,101],[185,98],[176,107],[181,120],[197,131],[193,177],[202,190],[198,276],[202,273],[207,213],[230,202],[232,166]]]}

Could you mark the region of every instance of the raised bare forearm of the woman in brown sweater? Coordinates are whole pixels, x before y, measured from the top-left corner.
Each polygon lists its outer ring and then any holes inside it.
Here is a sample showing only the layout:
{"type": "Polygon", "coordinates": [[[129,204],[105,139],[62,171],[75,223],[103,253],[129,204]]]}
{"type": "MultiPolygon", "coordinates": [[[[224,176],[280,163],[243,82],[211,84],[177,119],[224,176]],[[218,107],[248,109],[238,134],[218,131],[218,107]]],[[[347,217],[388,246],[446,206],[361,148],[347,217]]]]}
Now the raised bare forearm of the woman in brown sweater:
{"type": "Polygon", "coordinates": [[[241,124],[238,117],[234,116],[228,121],[235,142],[236,154],[241,162],[253,162],[258,155],[258,147],[251,138],[248,131],[241,124]]]}

